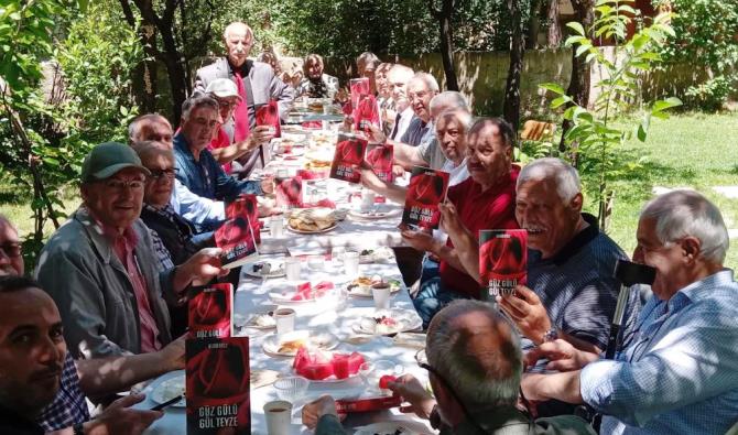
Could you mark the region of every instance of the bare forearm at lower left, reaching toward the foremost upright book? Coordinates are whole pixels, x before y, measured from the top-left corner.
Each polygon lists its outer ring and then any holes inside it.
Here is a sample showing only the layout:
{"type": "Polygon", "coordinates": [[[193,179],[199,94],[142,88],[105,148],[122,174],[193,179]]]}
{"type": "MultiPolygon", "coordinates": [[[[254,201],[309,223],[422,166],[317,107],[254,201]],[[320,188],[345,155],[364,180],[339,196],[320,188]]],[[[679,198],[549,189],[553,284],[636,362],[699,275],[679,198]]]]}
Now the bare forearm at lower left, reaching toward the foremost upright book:
{"type": "Polygon", "coordinates": [[[75,361],[79,387],[88,396],[126,391],[141,381],[171,371],[160,352],[75,361]]]}

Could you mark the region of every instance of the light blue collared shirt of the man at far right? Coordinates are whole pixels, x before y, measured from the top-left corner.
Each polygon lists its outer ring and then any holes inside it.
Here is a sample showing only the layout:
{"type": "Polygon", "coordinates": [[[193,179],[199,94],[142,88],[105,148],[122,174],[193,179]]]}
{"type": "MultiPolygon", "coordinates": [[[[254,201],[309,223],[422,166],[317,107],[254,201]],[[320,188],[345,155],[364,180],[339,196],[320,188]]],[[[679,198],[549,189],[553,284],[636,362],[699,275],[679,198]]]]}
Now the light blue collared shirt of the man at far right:
{"type": "Polygon", "coordinates": [[[738,418],[738,283],[725,269],[645,304],[633,342],[587,365],[603,434],[725,434],[738,418]]]}

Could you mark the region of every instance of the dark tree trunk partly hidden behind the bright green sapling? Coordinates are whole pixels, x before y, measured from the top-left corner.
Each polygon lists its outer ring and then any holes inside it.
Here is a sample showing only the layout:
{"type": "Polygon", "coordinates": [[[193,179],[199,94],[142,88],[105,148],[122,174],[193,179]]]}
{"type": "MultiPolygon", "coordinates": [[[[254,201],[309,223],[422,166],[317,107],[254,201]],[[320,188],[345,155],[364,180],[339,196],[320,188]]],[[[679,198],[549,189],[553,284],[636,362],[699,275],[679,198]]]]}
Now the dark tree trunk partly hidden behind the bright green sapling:
{"type": "MultiPolygon", "coordinates": [[[[595,20],[594,0],[572,0],[572,6],[577,15],[577,21],[582,26],[589,32],[589,28],[595,20]]],[[[572,50],[572,76],[566,89],[566,95],[572,97],[577,105],[586,107],[589,102],[589,81],[590,68],[589,64],[584,62],[585,57],[575,56],[575,51],[572,50]]],[[[566,152],[566,141],[564,137],[568,129],[572,128],[571,121],[564,121],[562,124],[562,137],[558,143],[558,151],[566,152]]],[[[576,166],[576,157],[572,161],[576,166]]]]}

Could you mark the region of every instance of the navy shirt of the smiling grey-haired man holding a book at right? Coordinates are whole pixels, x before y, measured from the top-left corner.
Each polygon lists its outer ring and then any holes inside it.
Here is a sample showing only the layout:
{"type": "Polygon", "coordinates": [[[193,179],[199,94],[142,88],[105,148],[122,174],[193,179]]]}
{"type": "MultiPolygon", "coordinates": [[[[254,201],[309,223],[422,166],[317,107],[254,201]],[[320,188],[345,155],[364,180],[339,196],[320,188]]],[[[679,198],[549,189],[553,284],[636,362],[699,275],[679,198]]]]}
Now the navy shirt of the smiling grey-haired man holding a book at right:
{"type": "MultiPolygon", "coordinates": [[[[612,276],[626,253],[597,228],[597,218],[583,214],[588,227],[576,233],[555,255],[542,259],[528,250],[528,286],[545,306],[554,327],[605,350],[620,292],[612,276]]],[[[623,319],[623,344],[634,330],[640,303],[637,292],[628,301],[623,319]]],[[[523,340],[523,348],[531,347],[523,340]]]]}

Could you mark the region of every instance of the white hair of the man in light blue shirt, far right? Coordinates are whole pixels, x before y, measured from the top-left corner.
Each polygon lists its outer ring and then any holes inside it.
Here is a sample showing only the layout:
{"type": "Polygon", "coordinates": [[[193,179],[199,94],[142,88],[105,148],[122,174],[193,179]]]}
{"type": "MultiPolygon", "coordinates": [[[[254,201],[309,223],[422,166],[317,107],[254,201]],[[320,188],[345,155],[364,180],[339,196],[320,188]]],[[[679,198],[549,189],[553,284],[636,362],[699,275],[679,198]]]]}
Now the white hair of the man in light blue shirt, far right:
{"type": "Polygon", "coordinates": [[[694,191],[672,191],[651,199],[641,219],[654,219],[659,241],[669,246],[685,237],[699,240],[701,255],[723,264],[730,241],[720,210],[694,191]]]}

